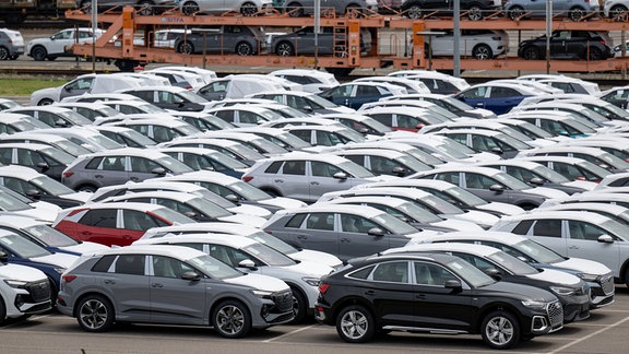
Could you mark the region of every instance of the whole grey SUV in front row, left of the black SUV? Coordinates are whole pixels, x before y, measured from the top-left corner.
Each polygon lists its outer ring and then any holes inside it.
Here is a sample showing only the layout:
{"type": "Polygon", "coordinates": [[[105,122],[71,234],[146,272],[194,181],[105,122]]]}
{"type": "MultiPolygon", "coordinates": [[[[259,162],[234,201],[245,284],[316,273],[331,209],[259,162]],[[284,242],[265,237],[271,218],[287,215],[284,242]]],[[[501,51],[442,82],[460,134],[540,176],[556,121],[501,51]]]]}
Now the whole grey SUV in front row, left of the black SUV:
{"type": "Polygon", "coordinates": [[[149,322],[213,326],[222,337],[241,338],[294,318],[283,281],[180,246],[128,246],[84,258],[63,273],[57,304],[87,332],[149,322]]]}

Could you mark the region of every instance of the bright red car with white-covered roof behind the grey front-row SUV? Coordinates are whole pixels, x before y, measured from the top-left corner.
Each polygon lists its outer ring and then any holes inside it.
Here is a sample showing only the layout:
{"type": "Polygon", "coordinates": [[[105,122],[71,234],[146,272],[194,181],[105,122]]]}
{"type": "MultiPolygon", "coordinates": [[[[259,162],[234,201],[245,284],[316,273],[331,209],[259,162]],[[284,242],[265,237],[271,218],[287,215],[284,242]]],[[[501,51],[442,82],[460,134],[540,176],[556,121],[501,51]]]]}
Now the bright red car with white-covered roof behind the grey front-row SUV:
{"type": "Polygon", "coordinates": [[[66,209],[52,227],[82,241],[128,246],[151,227],[193,220],[163,205],[134,202],[95,203],[66,209]]]}

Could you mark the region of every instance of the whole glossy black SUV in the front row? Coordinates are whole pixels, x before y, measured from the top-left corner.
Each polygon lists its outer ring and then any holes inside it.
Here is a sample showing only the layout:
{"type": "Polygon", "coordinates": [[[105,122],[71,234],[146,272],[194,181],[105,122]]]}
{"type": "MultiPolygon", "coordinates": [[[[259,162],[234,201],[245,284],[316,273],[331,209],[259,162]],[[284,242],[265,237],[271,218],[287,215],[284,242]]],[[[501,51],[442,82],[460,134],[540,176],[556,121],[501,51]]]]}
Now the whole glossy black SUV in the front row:
{"type": "Polygon", "coordinates": [[[472,333],[494,349],[563,327],[557,297],[544,290],[496,282],[446,253],[373,256],[321,279],[318,321],[346,342],[378,331],[472,333]]]}

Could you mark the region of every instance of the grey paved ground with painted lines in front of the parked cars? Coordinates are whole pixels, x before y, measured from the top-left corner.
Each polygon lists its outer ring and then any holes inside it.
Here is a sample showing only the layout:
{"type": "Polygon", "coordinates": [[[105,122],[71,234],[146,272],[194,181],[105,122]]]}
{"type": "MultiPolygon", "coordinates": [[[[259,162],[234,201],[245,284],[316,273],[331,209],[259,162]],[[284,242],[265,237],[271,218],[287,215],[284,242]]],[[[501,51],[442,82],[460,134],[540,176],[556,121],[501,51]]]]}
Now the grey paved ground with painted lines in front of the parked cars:
{"type": "MultiPolygon", "coordinates": [[[[509,353],[624,353],[629,333],[629,290],[616,286],[616,303],[590,319],[520,343],[509,353]]],[[[33,317],[0,328],[3,353],[486,353],[480,335],[394,332],[368,344],[344,343],[333,327],[314,322],[277,326],[241,340],[226,340],[211,329],[118,324],[107,333],[87,333],[59,314],[33,317]]]]}

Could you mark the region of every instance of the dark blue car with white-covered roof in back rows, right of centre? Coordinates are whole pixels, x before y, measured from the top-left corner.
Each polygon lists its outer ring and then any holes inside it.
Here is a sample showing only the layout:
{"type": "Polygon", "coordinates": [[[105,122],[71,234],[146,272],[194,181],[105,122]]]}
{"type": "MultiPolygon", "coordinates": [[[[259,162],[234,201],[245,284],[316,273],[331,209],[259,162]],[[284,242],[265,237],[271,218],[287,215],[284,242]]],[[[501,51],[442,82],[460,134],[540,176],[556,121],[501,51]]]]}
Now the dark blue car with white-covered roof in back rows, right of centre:
{"type": "Polygon", "coordinates": [[[522,99],[539,94],[535,90],[518,84],[484,83],[471,86],[454,98],[474,108],[489,109],[496,115],[502,115],[518,106],[522,99]]]}

